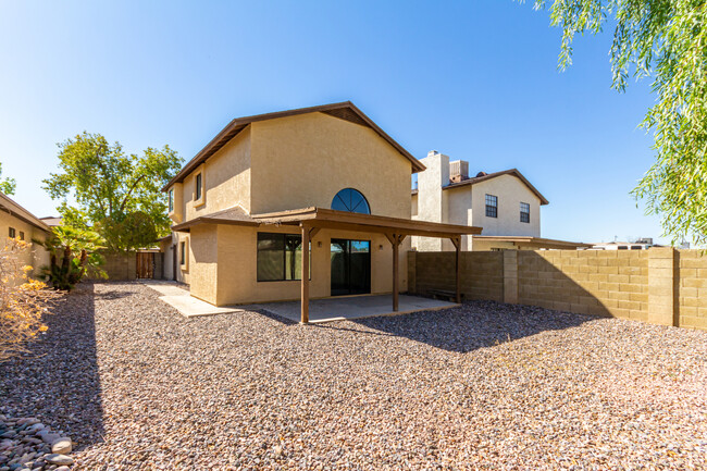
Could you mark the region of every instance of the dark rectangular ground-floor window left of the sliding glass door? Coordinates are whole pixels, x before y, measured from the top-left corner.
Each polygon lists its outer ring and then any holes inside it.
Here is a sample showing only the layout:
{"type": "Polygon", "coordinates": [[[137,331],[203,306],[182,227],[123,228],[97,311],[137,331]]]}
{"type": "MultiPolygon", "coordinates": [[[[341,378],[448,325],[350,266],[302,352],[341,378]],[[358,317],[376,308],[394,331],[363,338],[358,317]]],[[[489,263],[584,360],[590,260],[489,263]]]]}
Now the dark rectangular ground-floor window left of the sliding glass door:
{"type": "MultiPolygon", "coordinates": [[[[310,244],[311,249],[311,244],[310,244]]],[[[311,250],[310,250],[311,272],[311,250]]],[[[258,281],[301,280],[302,237],[297,234],[258,233],[258,281]]]]}

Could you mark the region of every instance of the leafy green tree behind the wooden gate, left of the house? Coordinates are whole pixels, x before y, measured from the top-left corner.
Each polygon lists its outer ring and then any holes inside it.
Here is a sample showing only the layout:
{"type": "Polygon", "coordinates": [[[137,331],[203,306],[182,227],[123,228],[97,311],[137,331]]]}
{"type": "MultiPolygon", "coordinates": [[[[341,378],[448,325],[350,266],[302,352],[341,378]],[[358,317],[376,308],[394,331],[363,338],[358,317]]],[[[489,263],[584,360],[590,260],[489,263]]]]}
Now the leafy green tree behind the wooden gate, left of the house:
{"type": "Polygon", "coordinates": [[[120,142],[110,145],[100,134],[86,132],[58,146],[61,172],[45,179],[44,188],[62,200],[65,225],[95,228],[114,251],[145,247],[169,233],[161,188],[183,163],[169,146],[127,156],[120,142]]]}

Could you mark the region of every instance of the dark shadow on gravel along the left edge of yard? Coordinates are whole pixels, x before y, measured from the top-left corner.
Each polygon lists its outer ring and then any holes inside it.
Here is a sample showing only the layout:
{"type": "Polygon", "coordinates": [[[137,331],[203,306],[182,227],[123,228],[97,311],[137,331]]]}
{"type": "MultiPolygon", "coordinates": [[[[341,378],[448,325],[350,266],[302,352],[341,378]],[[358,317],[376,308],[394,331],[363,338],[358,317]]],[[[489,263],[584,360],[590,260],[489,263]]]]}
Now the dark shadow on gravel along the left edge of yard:
{"type": "Polygon", "coordinates": [[[0,363],[0,413],[36,417],[78,449],[103,441],[94,285],[79,284],[45,317],[29,354],[0,363]]]}

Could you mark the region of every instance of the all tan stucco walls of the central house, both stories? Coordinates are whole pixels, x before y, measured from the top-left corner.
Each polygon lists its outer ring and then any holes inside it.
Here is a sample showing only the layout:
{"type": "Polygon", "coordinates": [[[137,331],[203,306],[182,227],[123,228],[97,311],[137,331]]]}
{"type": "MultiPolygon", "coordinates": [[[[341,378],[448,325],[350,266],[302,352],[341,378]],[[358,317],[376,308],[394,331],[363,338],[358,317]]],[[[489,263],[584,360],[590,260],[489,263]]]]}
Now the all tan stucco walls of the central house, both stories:
{"type": "MultiPolygon", "coordinates": [[[[183,183],[184,220],[241,206],[251,214],[307,207],[330,208],[336,193],[356,188],[373,214],[410,218],[411,163],[373,129],[310,113],[257,122],[188,175],[183,183]],[[204,201],[195,206],[195,175],[202,172],[204,201]]],[[[178,213],[178,211],[175,211],[178,213]]],[[[293,227],[256,230],[198,225],[187,240],[188,265],[176,277],[191,294],[223,306],[299,299],[300,282],[257,281],[257,232],[297,233],[293,227]]],[[[371,240],[371,292],[392,292],[393,256],[384,235],[321,231],[312,241],[310,296],[331,294],[331,238],[371,240]],[[322,247],[319,247],[319,243],[322,247]]],[[[407,290],[407,251],[400,246],[400,290],[407,290]]],[[[165,253],[169,263],[169,253],[165,253]]]]}

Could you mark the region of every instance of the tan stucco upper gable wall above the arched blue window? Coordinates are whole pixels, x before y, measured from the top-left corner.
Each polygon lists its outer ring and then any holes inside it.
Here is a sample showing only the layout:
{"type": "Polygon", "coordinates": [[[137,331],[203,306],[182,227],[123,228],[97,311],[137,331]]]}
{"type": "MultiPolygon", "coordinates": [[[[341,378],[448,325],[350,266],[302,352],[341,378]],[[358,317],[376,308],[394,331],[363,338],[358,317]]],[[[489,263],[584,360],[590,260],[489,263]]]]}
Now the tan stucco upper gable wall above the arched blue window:
{"type": "Polygon", "coordinates": [[[330,208],[350,187],[373,214],[410,218],[410,161],[373,129],[323,113],[251,126],[252,214],[330,208]]]}

